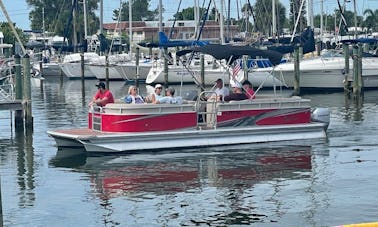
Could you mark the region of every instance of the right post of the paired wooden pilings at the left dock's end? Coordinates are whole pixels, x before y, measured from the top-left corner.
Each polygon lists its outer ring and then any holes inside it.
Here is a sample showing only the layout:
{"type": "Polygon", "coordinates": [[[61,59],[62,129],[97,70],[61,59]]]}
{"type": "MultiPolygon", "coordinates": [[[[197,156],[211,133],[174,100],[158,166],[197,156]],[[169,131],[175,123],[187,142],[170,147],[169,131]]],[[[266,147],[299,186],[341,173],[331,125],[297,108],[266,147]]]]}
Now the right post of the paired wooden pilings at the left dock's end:
{"type": "Polygon", "coordinates": [[[30,82],[30,57],[25,54],[23,58],[24,69],[24,86],[23,86],[23,101],[24,101],[24,118],[25,129],[33,130],[33,115],[32,115],[32,101],[31,101],[31,82],[30,82]]]}

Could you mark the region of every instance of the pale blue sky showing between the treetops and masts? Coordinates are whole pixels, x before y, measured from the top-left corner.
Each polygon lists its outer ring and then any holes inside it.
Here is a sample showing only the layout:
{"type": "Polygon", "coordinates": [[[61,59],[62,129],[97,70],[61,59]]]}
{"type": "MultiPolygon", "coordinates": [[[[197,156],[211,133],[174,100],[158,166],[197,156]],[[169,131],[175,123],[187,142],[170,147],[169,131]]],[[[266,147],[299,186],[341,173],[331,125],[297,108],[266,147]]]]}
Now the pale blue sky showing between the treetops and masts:
{"type": "MultiPolygon", "coordinates": [[[[128,0],[127,0],[128,1],[128,0]]],[[[203,0],[197,0],[200,6],[203,6],[203,0]]],[[[289,10],[289,0],[276,0],[280,1],[286,10],[289,10]]],[[[343,2],[343,0],[340,0],[343,2]]],[[[2,0],[8,15],[12,22],[16,23],[16,26],[24,30],[30,29],[29,21],[29,11],[31,8],[28,7],[25,0],[2,0]]],[[[104,2],[104,23],[113,22],[112,14],[114,9],[118,9],[120,5],[120,0],[103,0],[104,2]]],[[[125,0],[123,0],[125,2],[125,0]]],[[[207,7],[209,0],[205,1],[204,7],[207,7]]],[[[220,8],[220,0],[216,0],[217,7],[220,8]]],[[[227,4],[228,0],[224,0],[227,4]]],[[[244,5],[247,0],[231,0],[231,17],[237,18],[237,6],[239,8],[244,5]],[[236,4],[236,1],[238,4],[236,4]]],[[[256,0],[250,0],[251,4],[255,4],[256,0]]],[[[336,0],[313,0],[314,3],[314,14],[319,14],[321,12],[321,3],[323,2],[323,12],[331,14],[337,8],[336,0]]],[[[176,13],[179,6],[179,0],[162,0],[163,7],[165,8],[165,13],[163,14],[163,20],[173,19],[173,14],[176,13]]],[[[193,6],[194,1],[182,0],[180,11],[187,7],[193,6]]],[[[159,5],[159,0],[150,1],[150,10],[156,9],[159,5]]],[[[224,7],[226,8],[226,7],[224,7]]],[[[358,0],[357,1],[357,14],[362,15],[363,11],[366,9],[376,10],[378,9],[378,0],[358,0]]],[[[347,10],[353,11],[353,1],[348,3],[347,10]]],[[[241,16],[241,15],[240,15],[241,16]]],[[[0,12],[0,21],[6,21],[4,13],[0,12]]]]}

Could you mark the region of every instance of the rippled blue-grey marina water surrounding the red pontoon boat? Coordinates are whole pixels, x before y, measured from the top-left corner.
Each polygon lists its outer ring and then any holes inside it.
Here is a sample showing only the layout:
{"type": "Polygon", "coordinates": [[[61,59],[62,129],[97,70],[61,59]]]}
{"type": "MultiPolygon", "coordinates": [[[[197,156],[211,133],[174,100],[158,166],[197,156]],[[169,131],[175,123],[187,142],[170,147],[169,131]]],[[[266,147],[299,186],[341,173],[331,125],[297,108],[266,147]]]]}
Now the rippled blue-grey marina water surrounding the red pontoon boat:
{"type": "MultiPolygon", "coordinates": [[[[326,140],[67,156],[81,151],[58,151],[46,130],[86,126],[96,81],[85,83],[84,97],[81,81],[33,87],[33,132],[11,131],[9,112],[0,112],[4,226],[377,221],[378,91],[359,102],[343,93],[305,95],[331,110],[326,140]]],[[[117,98],[127,92],[121,82],[110,86],[117,98]]]]}

